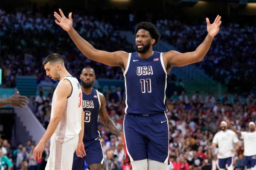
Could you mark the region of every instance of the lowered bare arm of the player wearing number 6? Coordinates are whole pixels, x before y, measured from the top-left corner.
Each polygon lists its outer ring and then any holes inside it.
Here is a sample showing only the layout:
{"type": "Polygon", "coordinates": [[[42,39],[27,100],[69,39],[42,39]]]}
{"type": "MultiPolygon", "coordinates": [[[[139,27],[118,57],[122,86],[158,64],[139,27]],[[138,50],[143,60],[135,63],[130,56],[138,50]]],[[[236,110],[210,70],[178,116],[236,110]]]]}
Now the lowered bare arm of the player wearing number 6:
{"type": "Polygon", "coordinates": [[[102,93],[99,94],[100,97],[100,110],[99,110],[99,116],[102,119],[102,123],[107,127],[108,130],[111,131],[111,133],[119,136],[121,139],[123,139],[124,134],[116,127],[116,125],[113,123],[111,118],[108,116],[108,112],[106,109],[106,100],[102,93]]]}

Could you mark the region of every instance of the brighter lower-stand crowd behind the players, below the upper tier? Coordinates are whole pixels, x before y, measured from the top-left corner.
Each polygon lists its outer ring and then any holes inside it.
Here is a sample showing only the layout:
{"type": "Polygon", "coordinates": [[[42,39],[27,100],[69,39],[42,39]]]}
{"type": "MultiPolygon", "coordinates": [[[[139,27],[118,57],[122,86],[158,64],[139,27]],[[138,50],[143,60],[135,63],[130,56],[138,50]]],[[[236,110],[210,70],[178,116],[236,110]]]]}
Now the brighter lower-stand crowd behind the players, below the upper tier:
{"type": "MultiPolygon", "coordinates": [[[[119,97],[122,90],[117,88],[117,92],[109,90],[105,94],[107,101],[107,111],[116,126],[122,130],[124,118],[122,98],[119,97]]],[[[39,113],[38,118],[47,127],[49,122],[50,100],[44,96],[36,96],[35,104],[39,113]],[[39,104],[41,98],[42,103],[39,104]],[[45,108],[45,109],[43,109],[45,108]],[[40,111],[39,111],[40,110],[40,111]],[[46,113],[47,112],[47,113],[46,113]]],[[[32,102],[29,107],[32,109],[32,102]]],[[[219,130],[220,122],[229,119],[237,130],[247,131],[250,121],[256,122],[256,100],[255,96],[248,95],[242,99],[239,96],[228,96],[227,93],[220,97],[209,93],[203,98],[199,92],[189,98],[186,92],[174,94],[167,100],[169,120],[169,156],[172,163],[169,170],[216,170],[216,153],[212,154],[211,144],[213,136],[219,130]]],[[[35,114],[37,114],[35,112],[35,114]]],[[[131,164],[124,164],[124,150],[122,142],[116,135],[111,134],[99,120],[99,131],[101,132],[102,149],[105,153],[105,164],[114,162],[115,166],[111,170],[131,170],[131,164]]],[[[234,166],[237,170],[244,169],[243,141],[240,140],[239,150],[236,152],[234,166]]],[[[44,150],[42,160],[33,161],[32,141],[27,144],[11,147],[7,140],[0,142],[3,155],[9,157],[13,166],[29,167],[29,170],[40,170],[43,168],[49,156],[49,145],[44,150]],[[25,163],[26,162],[26,163],[25,163]]],[[[113,164],[113,163],[112,163],[113,164]]],[[[110,170],[110,169],[107,169],[110,170]]]]}

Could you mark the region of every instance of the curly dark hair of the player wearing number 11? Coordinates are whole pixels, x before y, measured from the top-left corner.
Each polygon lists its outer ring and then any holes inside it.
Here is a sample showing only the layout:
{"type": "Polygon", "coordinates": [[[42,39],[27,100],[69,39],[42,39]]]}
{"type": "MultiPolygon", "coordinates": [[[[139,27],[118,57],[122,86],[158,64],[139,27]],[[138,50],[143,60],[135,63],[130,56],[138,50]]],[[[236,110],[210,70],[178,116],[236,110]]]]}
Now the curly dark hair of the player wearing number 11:
{"type": "Polygon", "coordinates": [[[160,40],[160,34],[157,30],[157,27],[152,24],[152,23],[149,23],[149,22],[141,22],[141,23],[138,23],[136,26],[135,26],[135,32],[134,32],[134,35],[137,34],[137,32],[140,30],[140,29],[145,29],[146,31],[149,32],[150,36],[152,38],[154,38],[156,41],[155,43],[153,44],[153,46],[155,44],[158,43],[158,41],[160,40]]]}

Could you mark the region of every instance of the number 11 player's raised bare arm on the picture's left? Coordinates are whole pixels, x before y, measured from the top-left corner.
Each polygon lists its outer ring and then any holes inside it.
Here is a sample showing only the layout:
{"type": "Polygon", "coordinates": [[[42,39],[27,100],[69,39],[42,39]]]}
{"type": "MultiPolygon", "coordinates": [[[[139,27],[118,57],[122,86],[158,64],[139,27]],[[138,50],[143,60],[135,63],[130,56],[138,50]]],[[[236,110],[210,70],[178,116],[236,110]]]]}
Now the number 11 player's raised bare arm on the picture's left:
{"type": "MultiPolygon", "coordinates": [[[[54,17],[57,19],[55,23],[61,26],[62,29],[67,31],[77,48],[90,60],[106,64],[108,66],[123,66],[123,63],[128,59],[128,53],[124,51],[117,52],[105,52],[95,49],[90,43],[84,40],[73,28],[72,13],[65,17],[61,9],[59,9],[61,15],[54,12],[54,17]]],[[[125,62],[126,63],[126,62],[125,62]]]]}

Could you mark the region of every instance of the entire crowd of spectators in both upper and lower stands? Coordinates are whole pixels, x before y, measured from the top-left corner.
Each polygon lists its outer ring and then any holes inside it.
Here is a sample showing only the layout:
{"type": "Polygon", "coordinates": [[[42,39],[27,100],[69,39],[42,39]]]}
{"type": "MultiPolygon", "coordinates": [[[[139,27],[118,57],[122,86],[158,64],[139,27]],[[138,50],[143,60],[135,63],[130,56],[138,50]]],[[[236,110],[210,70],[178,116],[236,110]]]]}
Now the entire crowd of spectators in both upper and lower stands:
{"type": "MultiPolygon", "coordinates": [[[[133,46],[115,32],[111,22],[90,15],[73,14],[73,23],[79,34],[97,49],[134,51],[133,46]]],[[[175,45],[180,52],[195,50],[207,34],[205,23],[191,25],[178,20],[158,20],[156,25],[162,39],[175,45]]],[[[252,80],[255,79],[256,72],[256,59],[253,58],[256,53],[255,28],[255,25],[234,23],[222,25],[206,58],[198,66],[213,78],[228,84],[233,91],[251,89],[255,86],[255,81],[252,80]]],[[[0,40],[3,87],[15,87],[15,79],[19,75],[37,76],[38,82],[45,80],[42,61],[53,52],[64,56],[67,70],[76,77],[79,77],[81,68],[88,65],[96,70],[97,78],[123,78],[120,68],[105,66],[85,58],[67,33],[55,25],[53,14],[43,15],[30,10],[6,13],[0,9],[0,40]]],[[[110,118],[122,130],[122,98],[111,90],[105,94],[105,98],[110,118]]],[[[51,100],[52,93],[44,96],[39,89],[38,96],[31,98],[29,103],[30,109],[44,127],[49,124],[51,100]]],[[[219,130],[220,122],[230,119],[236,129],[246,131],[248,123],[256,121],[255,102],[253,95],[248,95],[243,100],[239,95],[228,96],[225,93],[217,97],[209,93],[206,98],[202,98],[199,92],[195,92],[189,98],[185,91],[173,92],[166,102],[171,160],[169,170],[216,170],[216,155],[212,155],[210,145],[214,134],[219,130]]],[[[124,151],[120,139],[111,134],[100,120],[98,127],[105,164],[114,162],[113,170],[130,170],[131,164],[123,162],[124,151]]],[[[0,140],[0,158],[5,159],[6,166],[13,166],[14,170],[44,169],[49,156],[49,144],[39,161],[32,159],[34,147],[35,144],[30,139],[27,144],[17,146],[11,146],[6,139],[0,140]]],[[[244,169],[242,141],[236,152],[234,166],[237,170],[244,169]]]]}

